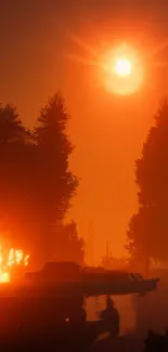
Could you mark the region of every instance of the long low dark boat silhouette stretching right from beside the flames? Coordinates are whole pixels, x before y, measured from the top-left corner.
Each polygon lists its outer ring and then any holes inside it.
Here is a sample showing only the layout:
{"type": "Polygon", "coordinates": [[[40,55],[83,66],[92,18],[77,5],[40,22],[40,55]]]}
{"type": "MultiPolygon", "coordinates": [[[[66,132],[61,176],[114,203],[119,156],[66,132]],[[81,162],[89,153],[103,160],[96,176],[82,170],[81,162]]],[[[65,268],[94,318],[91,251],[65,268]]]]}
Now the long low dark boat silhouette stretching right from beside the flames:
{"type": "Polygon", "coordinates": [[[157,288],[159,278],[143,278],[139,273],[80,268],[72,262],[47,263],[40,272],[26,273],[29,283],[53,287],[55,292],[73,291],[85,296],[146,294],[157,288]]]}

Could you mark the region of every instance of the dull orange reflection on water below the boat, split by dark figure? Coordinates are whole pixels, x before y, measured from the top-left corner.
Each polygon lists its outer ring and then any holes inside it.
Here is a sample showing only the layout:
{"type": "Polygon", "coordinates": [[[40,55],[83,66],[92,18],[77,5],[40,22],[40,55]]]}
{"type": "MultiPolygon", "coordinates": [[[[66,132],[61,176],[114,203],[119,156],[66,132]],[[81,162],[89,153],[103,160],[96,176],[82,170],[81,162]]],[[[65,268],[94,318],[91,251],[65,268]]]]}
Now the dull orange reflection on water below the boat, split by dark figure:
{"type": "MultiPolygon", "coordinates": [[[[132,296],[113,296],[113,300],[120,314],[120,334],[131,331],[135,326],[135,313],[132,296]]],[[[99,312],[105,309],[106,296],[88,298],[86,301],[87,320],[98,321],[99,312]]]]}

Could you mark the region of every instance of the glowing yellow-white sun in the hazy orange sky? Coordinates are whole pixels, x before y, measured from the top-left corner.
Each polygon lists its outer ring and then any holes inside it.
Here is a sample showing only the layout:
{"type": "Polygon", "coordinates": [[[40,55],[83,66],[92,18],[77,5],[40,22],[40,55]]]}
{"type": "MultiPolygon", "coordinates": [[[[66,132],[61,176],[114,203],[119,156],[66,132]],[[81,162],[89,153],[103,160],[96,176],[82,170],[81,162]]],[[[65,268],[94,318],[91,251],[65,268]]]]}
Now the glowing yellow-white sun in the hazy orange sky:
{"type": "Polygon", "coordinates": [[[143,82],[143,66],[139,54],[127,45],[106,53],[101,61],[108,91],[129,95],[135,93],[143,82]]]}

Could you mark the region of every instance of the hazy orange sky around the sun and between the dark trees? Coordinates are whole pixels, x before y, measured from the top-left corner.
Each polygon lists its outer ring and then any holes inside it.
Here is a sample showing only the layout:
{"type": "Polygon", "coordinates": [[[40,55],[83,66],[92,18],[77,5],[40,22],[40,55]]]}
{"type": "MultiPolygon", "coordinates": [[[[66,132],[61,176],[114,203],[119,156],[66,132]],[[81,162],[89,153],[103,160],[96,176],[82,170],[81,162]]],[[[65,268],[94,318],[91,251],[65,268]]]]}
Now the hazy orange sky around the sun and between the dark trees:
{"type": "Polygon", "coordinates": [[[72,168],[81,178],[70,217],[87,238],[92,221],[95,258],[109,240],[121,255],[137,209],[134,159],[167,89],[168,3],[150,0],[1,0],[0,100],[14,103],[26,125],[61,89],[72,115],[76,145],[72,168]],[[144,87],[134,96],[107,92],[91,65],[107,48],[135,45],[145,56],[144,87]],[[166,48],[166,47],[165,47],[166,48]]]}

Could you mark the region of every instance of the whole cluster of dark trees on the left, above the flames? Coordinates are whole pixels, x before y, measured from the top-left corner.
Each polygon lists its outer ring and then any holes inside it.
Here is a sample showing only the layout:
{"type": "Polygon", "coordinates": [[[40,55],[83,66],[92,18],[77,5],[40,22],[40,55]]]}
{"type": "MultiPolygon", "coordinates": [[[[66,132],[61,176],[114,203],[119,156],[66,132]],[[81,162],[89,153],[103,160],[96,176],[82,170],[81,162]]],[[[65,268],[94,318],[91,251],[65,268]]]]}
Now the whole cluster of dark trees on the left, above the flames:
{"type": "Polygon", "coordinates": [[[0,105],[0,234],[37,261],[83,260],[77,225],[65,223],[78,187],[68,120],[61,93],[40,109],[33,129],[14,106],[0,105]]]}

